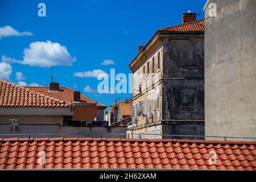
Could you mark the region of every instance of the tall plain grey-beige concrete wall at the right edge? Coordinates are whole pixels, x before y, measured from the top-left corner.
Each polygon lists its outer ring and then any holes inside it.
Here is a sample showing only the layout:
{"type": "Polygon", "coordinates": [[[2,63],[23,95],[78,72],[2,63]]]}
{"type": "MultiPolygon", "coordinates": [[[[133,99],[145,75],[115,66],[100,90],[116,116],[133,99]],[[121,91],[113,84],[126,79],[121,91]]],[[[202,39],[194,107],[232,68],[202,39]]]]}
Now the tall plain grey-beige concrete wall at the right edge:
{"type": "Polygon", "coordinates": [[[217,16],[205,10],[205,134],[256,137],[256,1],[212,2],[217,16]]]}

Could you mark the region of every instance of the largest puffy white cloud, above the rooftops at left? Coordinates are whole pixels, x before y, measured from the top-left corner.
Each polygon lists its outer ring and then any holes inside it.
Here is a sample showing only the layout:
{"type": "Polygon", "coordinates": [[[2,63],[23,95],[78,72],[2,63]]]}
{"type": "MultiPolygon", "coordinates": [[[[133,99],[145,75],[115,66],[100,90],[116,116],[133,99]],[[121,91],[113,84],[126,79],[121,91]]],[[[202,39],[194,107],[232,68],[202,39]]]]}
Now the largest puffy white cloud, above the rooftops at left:
{"type": "Polygon", "coordinates": [[[76,61],[76,57],[71,57],[65,46],[59,43],[32,42],[29,47],[23,51],[23,60],[16,60],[5,55],[2,61],[6,63],[27,64],[37,67],[51,67],[56,65],[72,65],[76,61]]]}

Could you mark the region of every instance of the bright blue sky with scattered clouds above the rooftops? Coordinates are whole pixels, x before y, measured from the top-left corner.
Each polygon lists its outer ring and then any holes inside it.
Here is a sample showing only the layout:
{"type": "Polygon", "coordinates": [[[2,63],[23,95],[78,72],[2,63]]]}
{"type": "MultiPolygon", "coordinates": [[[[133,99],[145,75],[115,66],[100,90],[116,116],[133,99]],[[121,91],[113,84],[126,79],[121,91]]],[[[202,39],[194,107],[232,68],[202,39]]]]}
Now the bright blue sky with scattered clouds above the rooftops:
{"type": "Polygon", "coordinates": [[[0,76],[26,84],[30,79],[34,85],[45,86],[51,81],[51,63],[36,64],[34,59],[39,56],[40,62],[46,56],[56,62],[54,81],[60,86],[80,90],[109,106],[115,98],[125,100],[131,94],[95,93],[100,82],[97,78],[76,77],[74,73],[98,69],[110,73],[111,68],[115,73],[131,73],[128,64],[139,44],[144,45],[159,28],[180,24],[181,14],[188,10],[200,13],[197,19],[203,19],[205,2],[0,0],[0,76]],[[46,17],[38,16],[40,2],[46,4],[46,17]],[[6,30],[13,36],[3,34],[6,30]],[[51,55],[55,48],[58,56],[51,55]],[[61,59],[66,62],[59,63],[61,59]],[[114,64],[102,65],[104,60],[114,64]]]}

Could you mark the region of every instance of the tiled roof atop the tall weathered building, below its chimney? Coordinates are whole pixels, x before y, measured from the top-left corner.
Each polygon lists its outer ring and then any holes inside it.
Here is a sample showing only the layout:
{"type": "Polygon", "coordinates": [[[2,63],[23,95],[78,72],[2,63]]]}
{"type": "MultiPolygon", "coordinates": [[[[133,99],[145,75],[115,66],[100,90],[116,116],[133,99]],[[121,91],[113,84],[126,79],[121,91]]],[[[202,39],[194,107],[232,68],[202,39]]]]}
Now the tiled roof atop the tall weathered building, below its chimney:
{"type": "Polygon", "coordinates": [[[188,22],[183,24],[178,24],[176,26],[160,28],[160,31],[168,32],[203,32],[204,31],[204,19],[196,20],[194,22],[188,22]]]}

